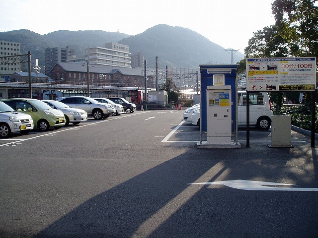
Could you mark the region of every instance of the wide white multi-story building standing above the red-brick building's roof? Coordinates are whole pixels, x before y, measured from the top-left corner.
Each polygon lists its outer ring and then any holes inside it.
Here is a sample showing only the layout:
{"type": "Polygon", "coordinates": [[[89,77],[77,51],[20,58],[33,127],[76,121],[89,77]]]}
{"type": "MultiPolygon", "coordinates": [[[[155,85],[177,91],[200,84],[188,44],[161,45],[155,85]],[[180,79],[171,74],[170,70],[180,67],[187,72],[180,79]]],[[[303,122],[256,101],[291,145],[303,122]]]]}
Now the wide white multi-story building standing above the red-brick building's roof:
{"type": "Polygon", "coordinates": [[[129,46],[118,43],[106,43],[105,48],[89,47],[85,49],[85,61],[90,65],[131,68],[129,46]]]}

